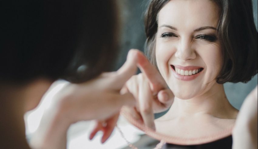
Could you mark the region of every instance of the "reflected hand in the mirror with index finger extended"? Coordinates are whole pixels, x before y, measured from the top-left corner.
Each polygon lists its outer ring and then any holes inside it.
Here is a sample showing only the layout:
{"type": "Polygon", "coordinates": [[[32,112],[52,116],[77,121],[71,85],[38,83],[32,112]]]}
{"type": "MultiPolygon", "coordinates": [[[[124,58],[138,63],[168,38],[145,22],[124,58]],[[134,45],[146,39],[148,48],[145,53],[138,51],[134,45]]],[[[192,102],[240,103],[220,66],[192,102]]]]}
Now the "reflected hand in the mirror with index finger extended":
{"type": "Polygon", "coordinates": [[[137,51],[137,66],[141,72],[132,76],[123,93],[130,92],[136,99],[135,107],[123,107],[135,120],[155,130],[154,114],[167,110],[173,103],[174,94],[167,87],[155,66],[151,65],[143,53],[137,51]]]}

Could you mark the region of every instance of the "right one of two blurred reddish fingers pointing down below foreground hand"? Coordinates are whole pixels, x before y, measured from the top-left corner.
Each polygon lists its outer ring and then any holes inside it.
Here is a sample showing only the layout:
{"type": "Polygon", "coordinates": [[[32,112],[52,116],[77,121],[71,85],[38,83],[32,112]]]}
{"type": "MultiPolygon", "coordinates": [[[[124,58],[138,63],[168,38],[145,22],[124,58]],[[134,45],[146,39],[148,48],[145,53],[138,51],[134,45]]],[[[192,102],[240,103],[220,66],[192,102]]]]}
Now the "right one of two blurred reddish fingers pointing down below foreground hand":
{"type": "Polygon", "coordinates": [[[104,128],[104,134],[101,138],[101,143],[104,143],[107,141],[107,139],[110,137],[110,135],[112,134],[114,127],[117,124],[117,120],[119,117],[119,113],[117,113],[116,115],[114,115],[112,118],[107,120],[107,126],[104,128]]]}

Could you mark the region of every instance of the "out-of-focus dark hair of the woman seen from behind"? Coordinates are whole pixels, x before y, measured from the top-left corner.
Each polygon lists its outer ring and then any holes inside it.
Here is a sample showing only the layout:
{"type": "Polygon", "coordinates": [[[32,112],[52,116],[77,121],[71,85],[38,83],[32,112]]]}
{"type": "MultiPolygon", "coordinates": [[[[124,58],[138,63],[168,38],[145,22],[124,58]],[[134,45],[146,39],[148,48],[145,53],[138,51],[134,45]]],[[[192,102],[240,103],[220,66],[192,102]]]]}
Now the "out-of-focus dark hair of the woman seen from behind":
{"type": "Polygon", "coordinates": [[[80,83],[110,71],[117,53],[113,0],[0,2],[0,81],[80,83]]]}

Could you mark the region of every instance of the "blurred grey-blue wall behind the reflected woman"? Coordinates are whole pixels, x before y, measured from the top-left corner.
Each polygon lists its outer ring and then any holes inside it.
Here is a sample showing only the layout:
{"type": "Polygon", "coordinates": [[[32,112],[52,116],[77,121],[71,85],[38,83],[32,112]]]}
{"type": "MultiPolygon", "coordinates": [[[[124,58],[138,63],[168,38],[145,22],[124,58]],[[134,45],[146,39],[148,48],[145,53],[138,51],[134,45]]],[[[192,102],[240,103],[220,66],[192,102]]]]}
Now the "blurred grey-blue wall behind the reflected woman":
{"type": "MultiPolygon", "coordinates": [[[[118,0],[120,7],[121,25],[121,53],[116,69],[120,68],[126,60],[129,49],[140,49],[143,51],[146,40],[144,33],[144,12],[148,0],[118,0]]],[[[253,14],[257,29],[257,0],[253,0],[253,14]]],[[[246,72],[248,73],[248,72],[246,72]]],[[[257,85],[257,75],[248,83],[225,83],[224,87],[229,102],[239,109],[245,97],[257,85]]],[[[158,115],[157,115],[158,116],[158,115]]]]}

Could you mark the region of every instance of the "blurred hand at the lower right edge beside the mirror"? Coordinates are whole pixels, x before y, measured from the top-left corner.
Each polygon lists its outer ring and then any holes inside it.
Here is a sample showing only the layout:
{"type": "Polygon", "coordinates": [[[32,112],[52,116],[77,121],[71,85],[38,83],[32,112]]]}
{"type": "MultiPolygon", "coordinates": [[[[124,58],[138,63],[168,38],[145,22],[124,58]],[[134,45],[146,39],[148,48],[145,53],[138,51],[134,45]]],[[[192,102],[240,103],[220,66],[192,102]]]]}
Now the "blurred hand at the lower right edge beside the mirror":
{"type": "Polygon", "coordinates": [[[244,100],[232,132],[233,149],[257,149],[257,86],[244,100]]]}

